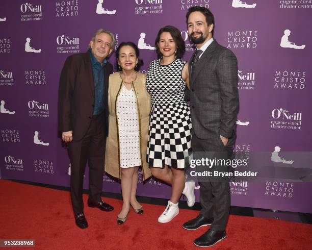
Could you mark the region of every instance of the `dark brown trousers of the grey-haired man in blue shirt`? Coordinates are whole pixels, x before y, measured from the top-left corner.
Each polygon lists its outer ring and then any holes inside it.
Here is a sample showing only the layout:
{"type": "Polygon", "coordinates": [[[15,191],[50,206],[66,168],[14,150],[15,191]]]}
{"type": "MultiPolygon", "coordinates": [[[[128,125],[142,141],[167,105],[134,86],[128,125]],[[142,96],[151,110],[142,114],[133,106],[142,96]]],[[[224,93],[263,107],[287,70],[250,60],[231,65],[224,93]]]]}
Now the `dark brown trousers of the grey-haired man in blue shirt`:
{"type": "Polygon", "coordinates": [[[69,143],[70,194],[74,213],[83,213],[84,211],[82,195],[87,163],[89,166],[89,200],[94,203],[101,201],[106,144],[105,126],[106,121],[103,114],[93,116],[83,139],[72,140],[69,143]]]}

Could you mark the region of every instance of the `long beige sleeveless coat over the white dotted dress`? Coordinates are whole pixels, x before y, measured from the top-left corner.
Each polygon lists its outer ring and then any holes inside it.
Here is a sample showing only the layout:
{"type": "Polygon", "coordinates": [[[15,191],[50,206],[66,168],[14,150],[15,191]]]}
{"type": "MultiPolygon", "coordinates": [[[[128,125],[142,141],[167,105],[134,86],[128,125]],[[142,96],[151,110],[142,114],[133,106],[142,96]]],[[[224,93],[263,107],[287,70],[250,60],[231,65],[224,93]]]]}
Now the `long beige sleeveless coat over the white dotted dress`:
{"type": "MultiPolygon", "coordinates": [[[[150,169],[146,162],[146,148],[148,139],[149,113],[150,113],[150,96],[145,88],[146,74],[138,73],[137,79],[133,82],[138,115],[139,115],[139,130],[140,130],[140,151],[141,151],[141,166],[143,180],[151,176],[150,169]]],[[[105,171],[111,176],[121,179],[120,170],[120,152],[118,138],[118,122],[116,116],[116,101],[117,96],[123,85],[119,72],[110,74],[109,90],[108,90],[108,106],[109,106],[109,136],[106,141],[105,155],[105,171]]]]}

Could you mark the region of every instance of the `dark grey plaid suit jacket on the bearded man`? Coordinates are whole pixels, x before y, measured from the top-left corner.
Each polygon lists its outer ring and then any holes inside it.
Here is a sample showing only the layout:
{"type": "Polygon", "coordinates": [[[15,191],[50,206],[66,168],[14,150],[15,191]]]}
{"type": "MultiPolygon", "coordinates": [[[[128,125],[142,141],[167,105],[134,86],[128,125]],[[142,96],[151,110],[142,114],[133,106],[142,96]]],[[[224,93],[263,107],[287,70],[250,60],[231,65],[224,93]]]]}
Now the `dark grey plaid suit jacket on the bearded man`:
{"type": "MultiPolygon", "coordinates": [[[[195,54],[195,53],[194,53],[195,54]]],[[[190,62],[193,61],[194,55],[190,62]]],[[[210,139],[231,138],[236,130],[239,109],[238,66],[236,56],[214,40],[190,76],[190,101],[193,133],[210,139]]]]}

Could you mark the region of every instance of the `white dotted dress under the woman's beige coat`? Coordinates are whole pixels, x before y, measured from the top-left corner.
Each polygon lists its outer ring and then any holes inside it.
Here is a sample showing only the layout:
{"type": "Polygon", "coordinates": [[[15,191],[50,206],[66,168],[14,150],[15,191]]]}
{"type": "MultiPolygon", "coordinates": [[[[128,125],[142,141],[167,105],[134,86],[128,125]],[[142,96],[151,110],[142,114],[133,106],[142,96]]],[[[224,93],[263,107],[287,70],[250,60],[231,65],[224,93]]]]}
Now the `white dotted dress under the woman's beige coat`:
{"type": "Polygon", "coordinates": [[[123,85],[117,98],[117,117],[120,145],[120,167],[141,165],[140,133],[137,101],[133,88],[123,85]]]}

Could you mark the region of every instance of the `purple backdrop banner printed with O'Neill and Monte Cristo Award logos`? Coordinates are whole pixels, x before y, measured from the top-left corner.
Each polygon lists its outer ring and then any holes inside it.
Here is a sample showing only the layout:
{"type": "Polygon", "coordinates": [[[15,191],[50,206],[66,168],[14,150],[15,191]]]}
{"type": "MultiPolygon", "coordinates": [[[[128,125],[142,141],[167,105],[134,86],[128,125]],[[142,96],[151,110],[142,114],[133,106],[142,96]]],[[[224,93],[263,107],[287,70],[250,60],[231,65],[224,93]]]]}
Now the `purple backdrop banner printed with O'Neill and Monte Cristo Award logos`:
{"type": "MultiPolygon", "coordinates": [[[[1,178],[68,187],[70,163],[57,129],[66,57],[86,52],[93,33],[103,28],[115,34],[116,48],[122,41],[138,44],[141,71],[146,72],[157,58],[158,30],[172,25],[181,31],[184,59],[189,60],[193,48],[185,15],[195,5],[211,9],[215,39],[238,58],[237,157],[266,152],[259,159],[266,168],[299,173],[262,182],[232,181],[231,204],[312,213],[312,174],[306,171],[312,168],[306,153],[312,151],[311,0],[1,1],[1,178]]],[[[115,62],[114,54],[109,61],[115,62]]],[[[103,179],[103,191],[120,192],[118,182],[103,179]]],[[[199,186],[195,192],[198,201],[199,186]]],[[[138,195],[170,194],[163,183],[139,180],[138,195]]]]}

